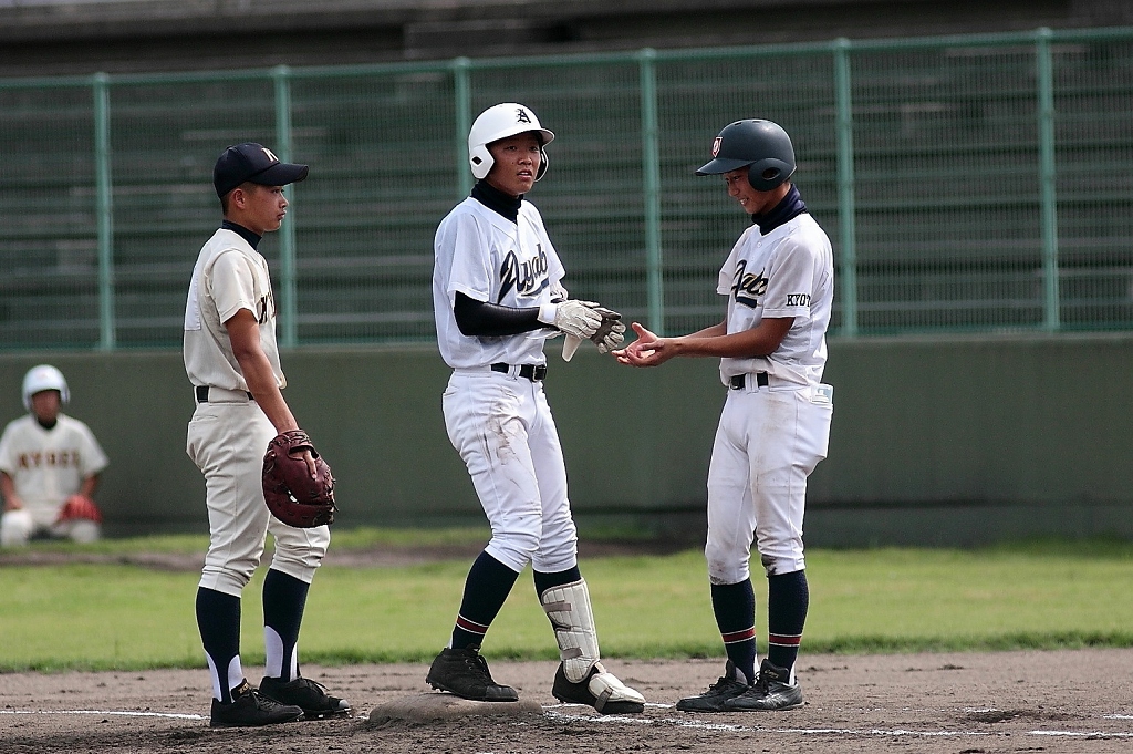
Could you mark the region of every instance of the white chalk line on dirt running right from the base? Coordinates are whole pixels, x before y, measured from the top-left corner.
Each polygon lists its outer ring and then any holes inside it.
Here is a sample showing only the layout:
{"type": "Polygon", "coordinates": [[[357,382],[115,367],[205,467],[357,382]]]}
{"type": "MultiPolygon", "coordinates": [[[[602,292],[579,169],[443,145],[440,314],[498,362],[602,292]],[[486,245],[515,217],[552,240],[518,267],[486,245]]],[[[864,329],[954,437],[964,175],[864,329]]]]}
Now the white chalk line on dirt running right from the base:
{"type": "MultiPolygon", "coordinates": [[[[917,738],[962,738],[962,737],[988,737],[988,736],[1002,736],[1006,732],[988,732],[982,730],[909,730],[906,728],[764,728],[760,726],[740,726],[726,722],[702,722],[699,720],[684,720],[678,718],[630,718],[625,715],[600,715],[591,717],[586,714],[568,714],[564,712],[559,712],[559,709],[568,706],[585,706],[581,704],[553,704],[544,706],[544,714],[551,718],[557,718],[564,721],[586,721],[586,722],[603,722],[603,723],[623,723],[623,725],[639,725],[639,726],[651,726],[651,725],[671,725],[678,728],[690,728],[695,730],[715,730],[722,732],[761,732],[761,734],[796,734],[802,736],[809,735],[841,735],[841,736],[878,736],[878,737],[900,737],[910,736],[917,738]]],[[[668,706],[666,704],[657,704],[654,706],[668,706]]],[[[1133,719],[1133,715],[1116,715],[1106,714],[1101,715],[1107,719],[1133,719]]],[[[1029,736],[1046,736],[1050,738],[1064,737],[1064,738],[1133,738],[1133,732],[1106,732],[1102,730],[1097,731],[1080,731],[1080,730],[1031,730],[1028,731],[1029,736]]]]}

